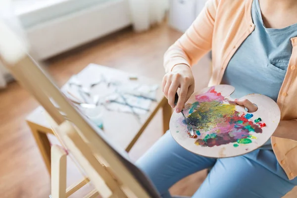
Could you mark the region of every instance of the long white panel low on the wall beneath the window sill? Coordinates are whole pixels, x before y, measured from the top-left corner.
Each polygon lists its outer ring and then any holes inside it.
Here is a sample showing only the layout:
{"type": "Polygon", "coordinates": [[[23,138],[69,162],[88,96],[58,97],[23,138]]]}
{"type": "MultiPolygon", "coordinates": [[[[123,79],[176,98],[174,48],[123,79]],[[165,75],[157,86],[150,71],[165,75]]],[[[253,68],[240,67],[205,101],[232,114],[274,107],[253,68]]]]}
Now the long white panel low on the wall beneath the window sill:
{"type": "Polygon", "coordinates": [[[34,58],[47,59],[131,25],[127,0],[113,0],[27,29],[34,58]]]}

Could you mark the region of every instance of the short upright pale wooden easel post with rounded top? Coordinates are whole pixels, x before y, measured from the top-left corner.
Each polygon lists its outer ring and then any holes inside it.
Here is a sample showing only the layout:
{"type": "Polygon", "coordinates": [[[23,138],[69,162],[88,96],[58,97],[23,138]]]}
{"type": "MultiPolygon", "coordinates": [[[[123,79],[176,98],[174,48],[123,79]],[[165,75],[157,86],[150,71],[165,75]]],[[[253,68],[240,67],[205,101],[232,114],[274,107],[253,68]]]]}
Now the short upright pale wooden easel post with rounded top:
{"type": "Polygon", "coordinates": [[[51,198],[66,198],[67,154],[57,145],[51,147],[51,198]]]}

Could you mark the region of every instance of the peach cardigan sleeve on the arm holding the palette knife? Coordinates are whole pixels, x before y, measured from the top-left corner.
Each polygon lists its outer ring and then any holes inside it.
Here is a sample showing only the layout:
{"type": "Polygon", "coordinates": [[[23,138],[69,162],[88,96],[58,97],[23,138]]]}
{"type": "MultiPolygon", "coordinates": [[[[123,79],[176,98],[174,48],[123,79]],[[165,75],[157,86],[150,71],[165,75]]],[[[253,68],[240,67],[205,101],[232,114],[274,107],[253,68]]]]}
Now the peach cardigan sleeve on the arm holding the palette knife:
{"type": "Polygon", "coordinates": [[[164,54],[164,67],[170,72],[175,65],[192,66],[211,50],[212,33],[220,0],[208,0],[190,28],[164,54]]]}

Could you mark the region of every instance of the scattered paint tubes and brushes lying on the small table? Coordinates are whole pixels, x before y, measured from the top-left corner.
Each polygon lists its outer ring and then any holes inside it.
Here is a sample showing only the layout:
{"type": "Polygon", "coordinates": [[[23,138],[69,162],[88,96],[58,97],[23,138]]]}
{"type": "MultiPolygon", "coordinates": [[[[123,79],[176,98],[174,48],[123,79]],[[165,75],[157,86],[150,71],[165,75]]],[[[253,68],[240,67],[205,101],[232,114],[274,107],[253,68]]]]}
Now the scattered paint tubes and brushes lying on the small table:
{"type": "Polygon", "coordinates": [[[121,80],[100,73],[96,79],[74,75],[62,88],[83,112],[89,112],[88,104],[92,104],[96,109],[101,106],[108,111],[132,113],[139,121],[140,115],[148,113],[151,103],[156,101],[157,89],[158,85],[139,84],[135,78],[121,80]]]}

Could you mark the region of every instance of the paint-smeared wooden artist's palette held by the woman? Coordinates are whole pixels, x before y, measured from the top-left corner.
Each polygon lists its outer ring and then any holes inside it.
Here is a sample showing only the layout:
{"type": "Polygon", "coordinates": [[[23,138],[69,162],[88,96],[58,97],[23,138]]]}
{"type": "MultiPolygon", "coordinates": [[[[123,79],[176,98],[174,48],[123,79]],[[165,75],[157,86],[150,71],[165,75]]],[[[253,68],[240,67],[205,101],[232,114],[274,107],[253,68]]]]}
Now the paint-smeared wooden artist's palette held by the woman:
{"type": "Polygon", "coordinates": [[[191,136],[181,113],[174,112],[170,132],[182,147],[207,157],[232,157],[264,145],[280,121],[280,110],[273,99],[250,94],[248,99],[258,109],[249,113],[230,97],[235,88],[217,85],[194,93],[184,108],[195,135],[191,136]]]}

